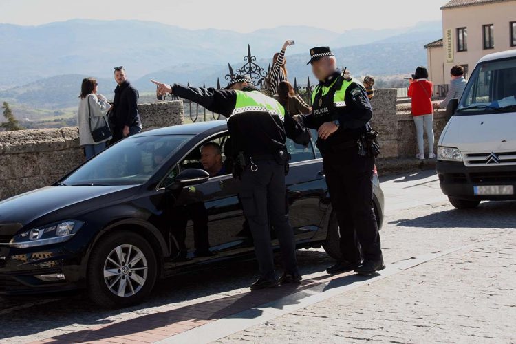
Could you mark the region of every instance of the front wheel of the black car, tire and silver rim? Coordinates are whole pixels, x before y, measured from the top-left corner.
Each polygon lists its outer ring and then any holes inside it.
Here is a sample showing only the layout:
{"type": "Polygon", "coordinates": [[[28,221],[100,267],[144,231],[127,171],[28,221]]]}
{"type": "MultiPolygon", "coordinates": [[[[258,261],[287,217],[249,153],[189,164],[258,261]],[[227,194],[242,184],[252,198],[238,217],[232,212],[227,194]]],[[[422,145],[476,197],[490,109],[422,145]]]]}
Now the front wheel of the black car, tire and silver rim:
{"type": "Polygon", "coordinates": [[[120,230],[101,237],[90,257],[87,292],[101,307],[140,303],[154,287],[156,257],[149,242],[136,233],[120,230]]]}

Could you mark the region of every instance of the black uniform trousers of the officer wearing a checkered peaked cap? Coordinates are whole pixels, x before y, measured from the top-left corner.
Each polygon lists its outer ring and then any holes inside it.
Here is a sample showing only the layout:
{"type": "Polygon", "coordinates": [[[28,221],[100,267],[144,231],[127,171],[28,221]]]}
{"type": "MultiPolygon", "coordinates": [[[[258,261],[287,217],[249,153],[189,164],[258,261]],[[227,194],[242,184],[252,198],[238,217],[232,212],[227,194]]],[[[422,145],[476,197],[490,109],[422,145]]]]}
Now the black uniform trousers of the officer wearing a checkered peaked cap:
{"type": "Polygon", "coordinates": [[[372,203],[374,158],[358,155],[358,147],[330,148],[323,153],[323,168],[341,235],[342,259],[351,263],[382,259],[372,203]]]}

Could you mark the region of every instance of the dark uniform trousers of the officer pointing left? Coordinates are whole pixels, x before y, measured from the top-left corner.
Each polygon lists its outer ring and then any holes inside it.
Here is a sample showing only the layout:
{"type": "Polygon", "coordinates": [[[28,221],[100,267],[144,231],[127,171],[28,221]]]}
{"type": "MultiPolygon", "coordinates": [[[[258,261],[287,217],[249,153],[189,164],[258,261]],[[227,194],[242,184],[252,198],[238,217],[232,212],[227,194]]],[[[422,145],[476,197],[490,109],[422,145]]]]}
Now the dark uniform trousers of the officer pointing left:
{"type": "Polygon", "coordinates": [[[276,160],[255,160],[257,171],[241,173],[240,199],[249,222],[261,277],[275,278],[270,226],[275,230],[286,272],[299,273],[294,231],[286,211],[285,165],[276,160]]]}

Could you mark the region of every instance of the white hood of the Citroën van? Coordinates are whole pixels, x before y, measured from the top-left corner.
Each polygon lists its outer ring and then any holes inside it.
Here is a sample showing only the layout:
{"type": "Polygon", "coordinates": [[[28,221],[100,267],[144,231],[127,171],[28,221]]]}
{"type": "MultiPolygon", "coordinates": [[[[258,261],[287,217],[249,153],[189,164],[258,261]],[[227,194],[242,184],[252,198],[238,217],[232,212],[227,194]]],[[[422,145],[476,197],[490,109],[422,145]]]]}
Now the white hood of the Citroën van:
{"type": "Polygon", "coordinates": [[[457,147],[462,152],[516,150],[516,114],[453,116],[439,145],[457,147]]]}

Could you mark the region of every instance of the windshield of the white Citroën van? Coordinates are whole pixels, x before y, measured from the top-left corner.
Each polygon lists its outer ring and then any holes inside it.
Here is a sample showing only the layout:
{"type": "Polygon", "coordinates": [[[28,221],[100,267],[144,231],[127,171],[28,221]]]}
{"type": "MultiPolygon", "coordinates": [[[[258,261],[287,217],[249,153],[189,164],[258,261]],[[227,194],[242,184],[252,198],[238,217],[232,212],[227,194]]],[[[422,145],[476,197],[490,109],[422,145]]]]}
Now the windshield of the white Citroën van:
{"type": "Polygon", "coordinates": [[[458,112],[495,113],[516,109],[516,58],[486,61],[475,68],[458,112]]]}

